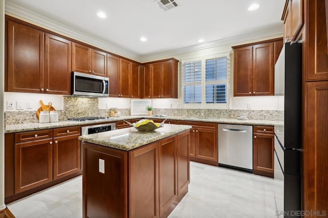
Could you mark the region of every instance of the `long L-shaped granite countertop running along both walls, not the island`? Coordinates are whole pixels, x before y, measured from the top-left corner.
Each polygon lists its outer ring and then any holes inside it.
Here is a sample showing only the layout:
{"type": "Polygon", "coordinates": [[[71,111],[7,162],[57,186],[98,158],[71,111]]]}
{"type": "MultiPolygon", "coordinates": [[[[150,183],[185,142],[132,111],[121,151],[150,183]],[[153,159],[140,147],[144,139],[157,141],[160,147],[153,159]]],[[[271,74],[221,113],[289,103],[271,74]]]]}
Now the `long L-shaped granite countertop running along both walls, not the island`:
{"type": "Polygon", "coordinates": [[[174,120],[184,120],[184,121],[196,121],[196,122],[210,122],[210,123],[219,123],[219,124],[239,124],[239,125],[261,125],[261,126],[274,126],[276,123],[274,120],[258,120],[258,119],[248,119],[248,120],[239,120],[236,118],[199,118],[199,117],[186,117],[186,116],[121,116],[113,117],[110,119],[98,119],[98,120],[89,120],[85,122],[75,122],[75,121],[63,121],[56,123],[30,123],[30,124],[16,124],[16,125],[7,125],[5,127],[5,133],[13,132],[25,132],[32,130],[42,130],[42,129],[52,129],[60,127],[70,127],[70,126],[83,126],[91,124],[101,124],[116,122],[124,119],[137,119],[137,118],[148,118],[148,119],[174,119],[174,120]]]}

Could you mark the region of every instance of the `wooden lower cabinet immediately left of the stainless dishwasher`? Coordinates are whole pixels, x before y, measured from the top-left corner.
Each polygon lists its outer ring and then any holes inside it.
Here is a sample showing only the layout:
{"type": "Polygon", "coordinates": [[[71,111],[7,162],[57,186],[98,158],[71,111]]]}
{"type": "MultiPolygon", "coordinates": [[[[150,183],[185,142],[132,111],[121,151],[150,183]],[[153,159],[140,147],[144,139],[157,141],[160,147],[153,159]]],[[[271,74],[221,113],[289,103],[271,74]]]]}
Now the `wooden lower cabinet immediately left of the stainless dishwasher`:
{"type": "Polygon", "coordinates": [[[177,124],[192,126],[190,160],[218,166],[217,124],[177,120],[177,124]]]}

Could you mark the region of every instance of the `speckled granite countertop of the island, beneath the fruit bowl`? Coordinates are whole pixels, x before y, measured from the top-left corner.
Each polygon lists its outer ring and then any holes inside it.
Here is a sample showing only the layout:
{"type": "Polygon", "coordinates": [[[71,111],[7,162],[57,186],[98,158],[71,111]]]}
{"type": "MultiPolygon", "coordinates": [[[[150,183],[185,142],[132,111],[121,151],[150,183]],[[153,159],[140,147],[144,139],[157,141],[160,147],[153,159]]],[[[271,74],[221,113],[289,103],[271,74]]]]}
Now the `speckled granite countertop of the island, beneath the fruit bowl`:
{"type": "Polygon", "coordinates": [[[134,127],[79,136],[78,139],[101,146],[129,151],[145,144],[191,129],[187,125],[165,124],[152,132],[140,132],[134,127]]]}

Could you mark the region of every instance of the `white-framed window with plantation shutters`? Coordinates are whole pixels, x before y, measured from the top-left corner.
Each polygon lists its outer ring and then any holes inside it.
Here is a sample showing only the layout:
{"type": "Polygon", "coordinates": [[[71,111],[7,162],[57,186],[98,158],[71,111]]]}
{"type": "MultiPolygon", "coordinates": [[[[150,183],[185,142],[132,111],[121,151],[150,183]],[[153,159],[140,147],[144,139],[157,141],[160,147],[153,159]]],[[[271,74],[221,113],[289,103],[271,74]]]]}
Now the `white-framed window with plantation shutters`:
{"type": "Polygon", "coordinates": [[[183,104],[228,107],[229,55],[222,56],[182,62],[183,104]]]}

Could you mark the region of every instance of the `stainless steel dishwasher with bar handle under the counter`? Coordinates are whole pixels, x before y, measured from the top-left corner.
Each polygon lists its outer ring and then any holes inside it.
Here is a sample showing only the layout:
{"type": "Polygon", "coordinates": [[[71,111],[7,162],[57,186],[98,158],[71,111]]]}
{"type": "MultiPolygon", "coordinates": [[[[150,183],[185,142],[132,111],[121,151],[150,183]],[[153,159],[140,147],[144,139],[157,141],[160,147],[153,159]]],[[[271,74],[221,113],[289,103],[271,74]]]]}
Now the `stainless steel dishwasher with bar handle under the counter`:
{"type": "Polygon", "coordinates": [[[253,126],[218,124],[219,166],[253,172],[253,126]]]}

